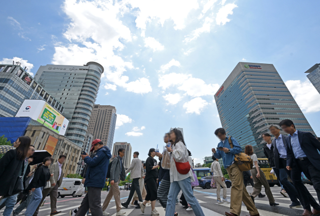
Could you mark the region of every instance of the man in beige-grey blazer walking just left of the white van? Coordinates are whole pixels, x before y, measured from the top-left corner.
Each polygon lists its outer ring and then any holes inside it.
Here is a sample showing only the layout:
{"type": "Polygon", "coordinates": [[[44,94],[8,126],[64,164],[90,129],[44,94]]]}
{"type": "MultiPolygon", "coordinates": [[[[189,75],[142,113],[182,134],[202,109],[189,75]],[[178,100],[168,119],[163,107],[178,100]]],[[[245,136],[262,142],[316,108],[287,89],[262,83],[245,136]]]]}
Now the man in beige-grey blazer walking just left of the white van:
{"type": "Polygon", "coordinates": [[[62,165],[65,161],[66,156],[60,155],[57,162],[53,163],[50,166],[50,174],[53,174],[53,176],[50,177],[50,188],[45,188],[42,190],[42,200],[39,204],[39,206],[36,208],[35,212],[33,213],[33,216],[37,216],[39,213],[39,208],[43,206],[45,202],[45,198],[48,194],[50,194],[50,207],[51,207],[51,213],[50,216],[57,215],[61,213],[61,211],[56,211],[56,199],[58,197],[58,188],[60,187],[63,179],[63,172],[62,172],[62,165]]]}

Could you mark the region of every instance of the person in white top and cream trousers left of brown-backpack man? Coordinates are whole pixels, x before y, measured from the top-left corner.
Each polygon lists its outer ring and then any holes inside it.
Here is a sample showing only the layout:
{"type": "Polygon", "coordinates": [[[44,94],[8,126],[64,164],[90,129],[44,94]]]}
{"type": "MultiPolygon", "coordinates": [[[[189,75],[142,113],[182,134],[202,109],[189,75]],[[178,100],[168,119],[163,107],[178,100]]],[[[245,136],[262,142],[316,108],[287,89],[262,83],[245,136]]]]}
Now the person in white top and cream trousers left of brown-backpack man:
{"type": "Polygon", "coordinates": [[[228,199],[226,199],[226,185],[224,183],[224,178],[223,178],[223,174],[221,171],[221,167],[219,162],[216,160],[216,158],[214,157],[214,155],[212,155],[212,160],[213,162],[211,163],[211,173],[216,185],[216,201],[218,202],[218,204],[222,204],[222,203],[230,203],[230,201],[228,199]],[[220,191],[221,191],[221,187],[223,188],[223,199],[221,201],[220,198],[220,191]]]}

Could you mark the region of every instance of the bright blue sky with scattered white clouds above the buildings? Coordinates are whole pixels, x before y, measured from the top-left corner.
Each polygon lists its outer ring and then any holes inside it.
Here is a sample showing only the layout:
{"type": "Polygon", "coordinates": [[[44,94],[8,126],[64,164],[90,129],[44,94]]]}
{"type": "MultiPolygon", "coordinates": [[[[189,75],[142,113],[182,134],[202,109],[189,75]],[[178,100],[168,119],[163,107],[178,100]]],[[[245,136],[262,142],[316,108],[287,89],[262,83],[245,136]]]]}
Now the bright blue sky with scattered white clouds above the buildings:
{"type": "Polygon", "coordinates": [[[319,63],[320,1],[4,1],[0,63],[97,61],[97,104],[117,109],[113,142],[140,158],[182,127],[195,162],[216,147],[213,94],[239,61],[272,63],[320,136],[320,95],[306,78],[319,63]],[[8,9],[10,8],[10,9],[8,9]]]}

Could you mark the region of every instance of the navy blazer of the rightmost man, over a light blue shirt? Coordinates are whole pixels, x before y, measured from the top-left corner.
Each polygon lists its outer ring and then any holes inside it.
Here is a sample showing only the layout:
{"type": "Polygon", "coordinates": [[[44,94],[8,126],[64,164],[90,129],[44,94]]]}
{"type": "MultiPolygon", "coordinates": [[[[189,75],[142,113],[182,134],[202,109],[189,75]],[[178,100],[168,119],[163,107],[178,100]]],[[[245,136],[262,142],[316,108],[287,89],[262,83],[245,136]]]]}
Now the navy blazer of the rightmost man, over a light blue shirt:
{"type": "MultiPolygon", "coordinates": [[[[302,151],[311,162],[311,164],[320,171],[320,155],[317,150],[320,151],[320,142],[310,133],[298,131],[298,140],[302,151]]],[[[294,158],[294,154],[291,148],[290,137],[285,138],[286,141],[286,166],[292,167],[292,164],[297,159],[294,158]]]]}

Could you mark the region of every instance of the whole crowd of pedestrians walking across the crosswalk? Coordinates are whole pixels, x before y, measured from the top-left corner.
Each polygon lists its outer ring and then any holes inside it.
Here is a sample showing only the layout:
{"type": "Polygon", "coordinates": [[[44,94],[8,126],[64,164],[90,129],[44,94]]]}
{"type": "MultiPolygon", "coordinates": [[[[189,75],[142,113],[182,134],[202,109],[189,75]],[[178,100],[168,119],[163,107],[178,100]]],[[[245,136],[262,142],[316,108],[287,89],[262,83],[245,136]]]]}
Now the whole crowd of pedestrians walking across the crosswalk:
{"type": "MultiPolygon", "coordinates": [[[[309,132],[298,131],[294,123],[285,119],[279,125],[270,125],[269,133],[261,134],[265,141],[263,153],[276,175],[281,186],[280,194],[289,197],[290,208],[303,208],[302,216],[320,216],[320,206],[308,192],[301,180],[301,173],[312,182],[313,188],[320,199],[320,142],[309,132]],[[288,134],[281,134],[280,131],[288,134]],[[274,137],[271,140],[271,136],[274,137]],[[311,210],[312,207],[312,210],[311,210]]],[[[244,153],[236,139],[227,136],[223,128],[215,130],[214,134],[220,140],[217,148],[212,148],[210,171],[212,182],[216,186],[217,204],[229,203],[230,210],[225,216],[240,216],[241,205],[245,205],[248,216],[260,216],[255,207],[255,198],[267,196],[270,206],[275,203],[269,184],[258,165],[254,150],[256,147],[246,145],[244,153]],[[222,159],[231,181],[231,195],[227,198],[225,178],[218,159],[222,159]],[[246,191],[248,183],[253,187],[252,193],[246,191]],[[262,186],[265,195],[261,194],[262,186]],[[222,188],[222,199],[220,191],[222,188]]],[[[108,147],[99,139],[93,140],[90,156],[81,152],[85,162],[82,170],[82,184],[87,188],[80,206],[69,212],[70,216],[109,216],[107,207],[113,197],[116,216],[125,215],[122,208],[133,207],[146,212],[150,205],[151,216],[159,216],[155,203],[159,202],[165,216],[178,216],[175,211],[177,204],[182,204],[186,211],[193,211],[195,216],[204,213],[193,195],[193,188],[198,186],[197,176],[193,172],[191,152],[186,148],[180,130],[174,128],[163,137],[165,148],[162,153],[151,148],[145,162],[139,159],[139,152],[133,153],[133,159],[125,170],[123,157],[125,149],[119,148],[117,156],[111,157],[108,147]],[[158,161],[156,160],[156,157],[158,161]],[[130,173],[131,184],[125,187],[129,196],[125,202],[120,202],[120,181],[124,181],[130,173]],[[101,205],[101,190],[109,179],[107,196],[101,205]],[[180,201],[178,199],[179,193],[180,201]]],[[[55,163],[52,158],[44,158],[40,164],[30,166],[33,161],[34,147],[30,145],[29,137],[19,137],[0,159],[0,209],[4,208],[3,216],[15,216],[26,208],[25,216],[37,216],[39,208],[44,204],[44,198],[50,195],[50,216],[61,213],[56,209],[58,187],[61,185],[65,160],[60,155],[55,163]],[[15,204],[20,205],[13,211],[15,204]]]]}

